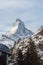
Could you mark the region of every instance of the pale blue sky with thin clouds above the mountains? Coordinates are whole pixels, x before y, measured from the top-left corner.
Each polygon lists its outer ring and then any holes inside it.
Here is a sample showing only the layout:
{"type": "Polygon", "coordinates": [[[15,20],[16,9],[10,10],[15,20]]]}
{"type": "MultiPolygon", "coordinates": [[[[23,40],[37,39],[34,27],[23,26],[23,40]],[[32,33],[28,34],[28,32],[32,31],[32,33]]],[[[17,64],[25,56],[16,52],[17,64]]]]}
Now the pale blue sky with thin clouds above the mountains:
{"type": "Polygon", "coordinates": [[[17,18],[36,32],[43,25],[43,0],[0,0],[0,33],[9,31],[17,18]]]}

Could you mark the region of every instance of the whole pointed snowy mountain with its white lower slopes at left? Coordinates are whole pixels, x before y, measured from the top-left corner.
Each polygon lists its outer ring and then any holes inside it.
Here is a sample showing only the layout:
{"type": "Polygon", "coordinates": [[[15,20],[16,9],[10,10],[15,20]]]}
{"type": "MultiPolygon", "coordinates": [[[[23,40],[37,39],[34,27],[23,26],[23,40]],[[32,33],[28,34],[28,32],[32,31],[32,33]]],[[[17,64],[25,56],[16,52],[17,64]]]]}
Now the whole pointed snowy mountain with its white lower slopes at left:
{"type": "Polygon", "coordinates": [[[7,45],[8,47],[12,47],[15,41],[18,39],[23,39],[25,37],[31,36],[32,34],[33,32],[28,30],[20,19],[16,19],[12,29],[6,34],[2,35],[0,42],[7,45]]]}

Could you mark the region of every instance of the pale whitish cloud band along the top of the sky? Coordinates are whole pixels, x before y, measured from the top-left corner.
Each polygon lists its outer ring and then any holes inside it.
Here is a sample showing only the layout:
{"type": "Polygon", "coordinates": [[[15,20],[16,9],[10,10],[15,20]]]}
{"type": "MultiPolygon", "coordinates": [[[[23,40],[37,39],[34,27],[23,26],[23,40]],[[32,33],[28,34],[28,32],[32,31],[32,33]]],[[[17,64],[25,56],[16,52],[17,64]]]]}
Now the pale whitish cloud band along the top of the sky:
{"type": "Polygon", "coordinates": [[[33,1],[30,0],[3,0],[0,1],[0,9],[3,8],[10,8],[10,7],[14,7],[14,8],[32,8],[35,7],[36,4],[34,4],[33,1]]]}

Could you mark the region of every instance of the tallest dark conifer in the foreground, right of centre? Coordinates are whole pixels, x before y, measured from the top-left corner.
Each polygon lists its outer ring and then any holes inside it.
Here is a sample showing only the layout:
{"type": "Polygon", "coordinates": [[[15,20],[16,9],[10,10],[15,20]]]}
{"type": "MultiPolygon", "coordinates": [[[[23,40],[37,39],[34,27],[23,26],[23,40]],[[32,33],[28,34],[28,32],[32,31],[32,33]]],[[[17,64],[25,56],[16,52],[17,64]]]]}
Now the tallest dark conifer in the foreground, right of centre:
{"type": "Polygon", "coordinates": [[[40,57],[37,54],[36,46],[31,38],[29,43],[25,54],[24,65],[40,65],[40,57]]]}

